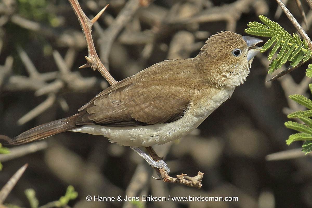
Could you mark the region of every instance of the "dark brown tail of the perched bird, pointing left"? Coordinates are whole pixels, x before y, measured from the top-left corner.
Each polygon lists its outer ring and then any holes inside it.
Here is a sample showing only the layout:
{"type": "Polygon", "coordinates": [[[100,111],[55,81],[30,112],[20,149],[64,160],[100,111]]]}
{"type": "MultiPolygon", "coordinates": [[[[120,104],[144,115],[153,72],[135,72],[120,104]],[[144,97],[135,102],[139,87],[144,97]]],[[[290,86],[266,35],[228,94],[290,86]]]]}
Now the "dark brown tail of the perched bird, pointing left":
{"type": "Polygon", "coordinates": [[[80,115],[77,113],[68,118],[62,118],[56,121],[51,121],[49,123],[42,124],[40,126],[36,126],[14,137],[12,141],[10,141],[8,144],[20,145],[38,139],[44,139],[48,136],[52,136],[64,131],[75,129],[77,127],[75,125],[75,122],[79,116],[80,115]]]}

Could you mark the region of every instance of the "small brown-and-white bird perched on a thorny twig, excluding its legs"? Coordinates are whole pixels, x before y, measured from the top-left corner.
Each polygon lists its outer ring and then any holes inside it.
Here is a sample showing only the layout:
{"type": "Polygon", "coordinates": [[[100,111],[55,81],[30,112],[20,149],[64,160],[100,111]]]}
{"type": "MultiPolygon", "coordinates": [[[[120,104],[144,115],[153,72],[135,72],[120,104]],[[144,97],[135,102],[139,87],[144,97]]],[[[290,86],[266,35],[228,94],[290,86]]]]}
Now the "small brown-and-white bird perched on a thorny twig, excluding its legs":
{"type": "Polygon", "coordinates": [[[261,40],[223,31],[194,58],[166,60],[100,92],[71,117],[37,126],[11,144],[63,131],[104,135],[129,146],[178,139],[196,128],[246,80],[261,40]]]}

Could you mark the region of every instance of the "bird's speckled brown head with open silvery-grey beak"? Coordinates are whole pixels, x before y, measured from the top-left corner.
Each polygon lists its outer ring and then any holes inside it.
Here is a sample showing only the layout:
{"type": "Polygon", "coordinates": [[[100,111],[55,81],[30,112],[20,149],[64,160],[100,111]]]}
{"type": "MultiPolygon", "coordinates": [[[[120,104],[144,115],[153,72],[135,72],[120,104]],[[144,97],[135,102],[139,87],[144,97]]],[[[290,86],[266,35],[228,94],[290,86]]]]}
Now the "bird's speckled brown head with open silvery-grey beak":
{"type": "Polygon", "coordinates": [[[262,40],[255,37],[218,32],[209,37],[195,59],[210,82],[234,88],[246,80],[253,58],[260,52],[261,47],[255,46],[259,42],[262,40]]]}

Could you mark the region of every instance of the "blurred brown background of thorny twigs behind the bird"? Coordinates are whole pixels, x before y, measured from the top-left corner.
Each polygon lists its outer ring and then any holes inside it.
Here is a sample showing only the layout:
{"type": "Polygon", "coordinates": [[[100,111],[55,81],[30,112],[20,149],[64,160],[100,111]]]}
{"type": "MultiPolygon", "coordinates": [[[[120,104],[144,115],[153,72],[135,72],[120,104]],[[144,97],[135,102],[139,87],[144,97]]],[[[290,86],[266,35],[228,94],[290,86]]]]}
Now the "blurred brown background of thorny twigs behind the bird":
{"type": "MultiPolygon", "coordinates": [[[[79,2],[90,18],[110,4],[92,34],[101,60],[118,81],[165,59],[195,57],[204,41],[216,32],[231,30],[246,35],[247,23],[259,21],[259,14],[295,32],[275,1],[155,0],[147,6],[138,0],[79,2]]],[[[295,1],[286,6],[301,23],[295,1]]],[[[310,8],[305,1],[302,7],[309,27],[310,8]]],[[[85,64],[88,52],[79,22],[66,0],[2,0],[0,49],[0,134],[14,137],[39,124],[71,116],[108,86],[99,72],[78,69],[85,64]]],[[[300,142],[286,145],[285,140],[294,132],[284,126],[286,114],[300,109],[288,95],[310,96],[307,88],[311,80],[305,77],[302,66],[265,84],[271,77],[265,55],[254,59],[247,81],[198,131],[155,147],[165,156],[169,175],[204,172],[201,189],[154,180],[154,170],[129,147],[109,143],[102,136],[65,132],[32,146],[20,146],[22,156],[2,161],[0,187],[18,168],[29,164],[5,202],[30,207],[24,190],[32,188],[40,205],[45,205],[58,200],[66,187],[73,185],[79,196],[69,205],[76,208],[135,207],[124,201],[88,202],[88,195],[239,199],[142,202],[143,207],[151,208],[312,207],[311,156],[300,153],[300,142]],[[289,159],[265,158],[296,148],[289,159]],[[33,149],[42,150],[30,153],[33,149]]]]}

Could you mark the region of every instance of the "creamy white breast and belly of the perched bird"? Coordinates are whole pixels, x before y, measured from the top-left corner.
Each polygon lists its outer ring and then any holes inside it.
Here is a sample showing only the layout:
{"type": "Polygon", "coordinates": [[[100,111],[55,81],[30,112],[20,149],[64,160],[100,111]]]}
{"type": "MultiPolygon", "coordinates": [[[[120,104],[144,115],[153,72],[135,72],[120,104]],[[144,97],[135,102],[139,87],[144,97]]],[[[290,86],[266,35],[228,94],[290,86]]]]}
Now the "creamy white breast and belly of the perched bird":
{"type": "MultiPolygon", "coordinates": [[[[197,128],[217,107],[225,102],[233,93],[231,90],[220,90],[212,99],[205,100],[200,106],[192,104],[182,118],[165,124],[154,124],[136,127],[109,127],[100,125],[83,125],[71,131],[103,135],[110,142],[123,146],[152,146],[164,144],[187,135],[197,128]]],[[[207,99],[207,98],[206,98],[207,99]]]]}

